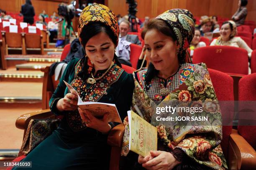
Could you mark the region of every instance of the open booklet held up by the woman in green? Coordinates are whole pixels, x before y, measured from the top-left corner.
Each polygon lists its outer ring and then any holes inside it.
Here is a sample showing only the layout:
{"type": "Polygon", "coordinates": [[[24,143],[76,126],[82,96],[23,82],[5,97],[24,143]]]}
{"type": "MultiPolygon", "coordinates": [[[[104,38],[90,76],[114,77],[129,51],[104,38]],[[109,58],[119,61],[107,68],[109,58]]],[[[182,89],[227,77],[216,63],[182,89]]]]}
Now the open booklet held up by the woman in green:
{"type": "Polygon", "coordinates": [[[76,94],[78,96],[77,106],[80,109],[88,110],[97,118],[102,118],[104,114],[109,113],[108,122],[122,123],[118,110],[115,107],[115,104],[92,102],[92,101],[83,102],[80,96],[77,94],[77,91],[66,81],[64,81],[64,83],[66,84],[66,86],[68,87],[69,91],[72,94],[76,94]]]}

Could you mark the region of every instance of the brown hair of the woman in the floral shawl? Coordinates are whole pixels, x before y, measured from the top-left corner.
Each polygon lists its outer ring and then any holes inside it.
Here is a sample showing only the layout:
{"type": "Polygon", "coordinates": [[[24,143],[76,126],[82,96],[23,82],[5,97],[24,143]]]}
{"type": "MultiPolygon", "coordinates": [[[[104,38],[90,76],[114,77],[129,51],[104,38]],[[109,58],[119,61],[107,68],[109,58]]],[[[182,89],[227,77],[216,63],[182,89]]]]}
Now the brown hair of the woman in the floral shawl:
{"type": "MultiPolygon", "coordinates": [[[[156,29],[160,33],[162,33],[166,36],[172,37],[173,41],[177,40],[177,37],[175,36],[173,30],[168,26],[166,21],[159,20],[159,19],[150,20],[145,25],[145,27],[141,33],[141,37],[143,38],[143,40],[145,38],[146,32],[148,30],[152,30],[152,29],[156,29]]],[[[184,57],[178,56],[178,60],[179,60],[180,64],[184,63],[184,57]]],[[[149,85],[150,81],[153,79],[153,77],[155,76],[155,74],[156,74],[156,69],[155,69],[154,65],[152,63],[149,63],[148,70],[146,73],[146,78],[145,78],[146,89],[148,89],[148,85],[149,85]]]]}

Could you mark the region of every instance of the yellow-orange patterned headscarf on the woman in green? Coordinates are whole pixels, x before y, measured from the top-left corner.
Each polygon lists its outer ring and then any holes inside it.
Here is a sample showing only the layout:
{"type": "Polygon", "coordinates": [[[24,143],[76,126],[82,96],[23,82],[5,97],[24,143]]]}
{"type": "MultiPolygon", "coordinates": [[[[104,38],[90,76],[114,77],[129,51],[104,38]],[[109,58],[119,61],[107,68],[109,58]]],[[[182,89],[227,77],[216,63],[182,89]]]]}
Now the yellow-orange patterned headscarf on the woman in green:
{"type": "Polygon", "coordinates": [[[107,25],[114,33],[116,41],[113,42],[115,46],[118,45],[119,27],[118,21],[115,14],[105,5],[102,4],[92,4],[84,8],[79,17],[78,22],[78,37],[82,44],[82,39],[80,37],[83,28],[91,22],[100,22],[107,25]]]}

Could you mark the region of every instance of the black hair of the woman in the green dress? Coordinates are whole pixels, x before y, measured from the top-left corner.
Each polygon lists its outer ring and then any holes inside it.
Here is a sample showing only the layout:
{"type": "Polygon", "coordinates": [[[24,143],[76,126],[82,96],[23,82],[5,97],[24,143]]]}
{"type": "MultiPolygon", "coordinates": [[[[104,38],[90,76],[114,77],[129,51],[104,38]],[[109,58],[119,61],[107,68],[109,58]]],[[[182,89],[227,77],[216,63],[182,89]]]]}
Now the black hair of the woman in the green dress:
{"type": "MultiPolygon", "coordinates": [[[[110,39],[115,44],[116,37],[113,31],[107,25],[96,22],[96,23],[89,23],[88,25],[84,26],[84,28],[82,29],[82,32],[80,34],[80,38],[82,40],[81,42],[82,46],[85,48],[85,45],[90,40],[90,38],[102,32],[108,34],[110,39]]],[[[121,63],[118,60],[118,57],[115,54],[114,54],[114,60],[118,66],[122,67],[121,63]]],[[[78,76],[86,80],[88,78],[88,69],[89,69],[89,66],[87,65],[87,57],[83,57],[81,62],[84,64],[83,64],[82,71],[78,73],[78,76]]],[[[92,71],[95,71],[94,68],[92,69],[92,71]]]]}

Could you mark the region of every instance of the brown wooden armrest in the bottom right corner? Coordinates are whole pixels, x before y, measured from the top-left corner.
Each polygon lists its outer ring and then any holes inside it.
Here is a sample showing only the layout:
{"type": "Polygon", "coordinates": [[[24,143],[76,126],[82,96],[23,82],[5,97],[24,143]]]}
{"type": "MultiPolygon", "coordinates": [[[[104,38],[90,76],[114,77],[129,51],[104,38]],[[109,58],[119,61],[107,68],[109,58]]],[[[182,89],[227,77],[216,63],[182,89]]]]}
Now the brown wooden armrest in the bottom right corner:
{"type": "Polygon", "coordinates": [[[228,150],[230,169],[251,170],[256,167],[255,150],[235,129],[230,134],[228,150]]]}

